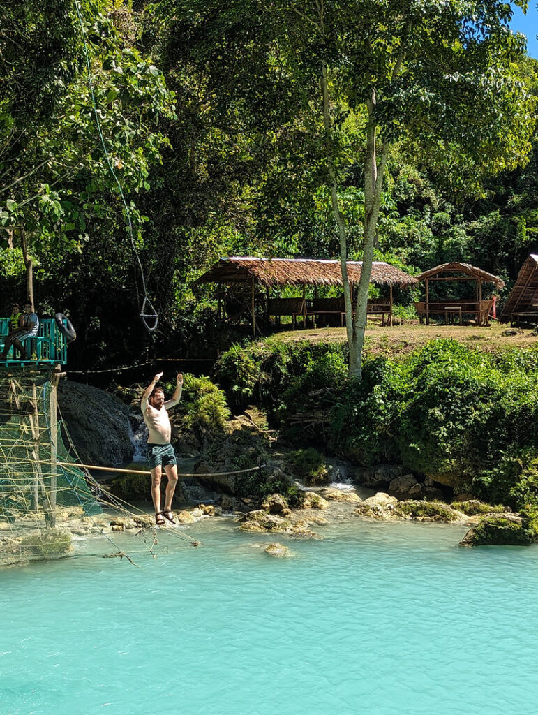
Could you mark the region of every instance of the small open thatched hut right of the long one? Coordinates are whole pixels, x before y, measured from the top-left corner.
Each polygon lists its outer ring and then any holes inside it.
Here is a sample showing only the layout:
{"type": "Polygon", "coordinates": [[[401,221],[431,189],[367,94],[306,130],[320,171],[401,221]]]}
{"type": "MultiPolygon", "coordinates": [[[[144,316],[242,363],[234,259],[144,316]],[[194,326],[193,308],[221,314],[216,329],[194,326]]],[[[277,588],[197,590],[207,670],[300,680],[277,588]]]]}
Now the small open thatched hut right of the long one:
{"type": "Polygon", "coordinates": [[[469,263],[442,263],[430,270],[417,275],[417,280],[424,282],[426,289],[426,300],[415,303],[419,317],[426,318],[429,325],[430,315],[444,315],[445,322],[454,320],[454,315],[458,315],[459,322],[462,322],[462,315],[468,313],[475,316],[477,325],[488,325],[489,312],[492,309],[492,300],[483,300],[482,284],[492,283],[497,290],[504,288],[504,280],[497,275],[488,273],[481,268],[472,266],[469,263]],[[432,281],[462,281],[472,280],[475,283],[474,301],[467,298],[458,300],[431,301],[429,299],[429,283],[432,281]]]}

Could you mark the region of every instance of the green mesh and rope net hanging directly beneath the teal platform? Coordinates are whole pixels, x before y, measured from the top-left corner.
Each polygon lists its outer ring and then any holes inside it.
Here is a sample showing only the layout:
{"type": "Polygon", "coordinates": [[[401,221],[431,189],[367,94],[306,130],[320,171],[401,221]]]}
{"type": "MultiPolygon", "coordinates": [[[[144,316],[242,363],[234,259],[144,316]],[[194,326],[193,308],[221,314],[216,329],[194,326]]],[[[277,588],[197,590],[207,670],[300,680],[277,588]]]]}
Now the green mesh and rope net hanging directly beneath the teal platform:
{"type": "Polygon", "coordinates": [[[17,551],[61,555],[71,538],[54,528],[56,518],[101,513],[63,435],[48,374],[0,375],[0,565],[16,561],[17,551]]]}

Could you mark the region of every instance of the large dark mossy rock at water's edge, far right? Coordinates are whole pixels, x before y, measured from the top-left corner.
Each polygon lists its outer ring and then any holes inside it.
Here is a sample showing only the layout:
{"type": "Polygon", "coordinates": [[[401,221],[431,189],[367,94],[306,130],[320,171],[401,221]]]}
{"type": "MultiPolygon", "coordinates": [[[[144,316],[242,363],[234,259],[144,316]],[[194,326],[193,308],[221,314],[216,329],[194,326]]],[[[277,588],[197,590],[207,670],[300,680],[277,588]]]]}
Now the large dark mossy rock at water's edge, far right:
{"type": "Polygon", "coordinates": [[[538,542],[535,523],[519,514],[487,516],[467,531],[459,546],[529,546],[538,542]]]}

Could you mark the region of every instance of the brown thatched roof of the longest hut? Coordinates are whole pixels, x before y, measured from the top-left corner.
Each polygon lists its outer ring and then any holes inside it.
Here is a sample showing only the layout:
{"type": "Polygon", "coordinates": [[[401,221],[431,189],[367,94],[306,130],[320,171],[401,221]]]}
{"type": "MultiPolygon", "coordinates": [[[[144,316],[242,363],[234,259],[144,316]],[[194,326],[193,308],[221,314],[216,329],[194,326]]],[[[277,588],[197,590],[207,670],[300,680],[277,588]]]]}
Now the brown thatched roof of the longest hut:
{"type": "MultiPolygon", "coordinates": [[[[348,261],[349,282],[358,283],[362,261],[348,261]]],[[[197,282],[255,283],[276,285],[342,285],[340,262],[314,258],[254,258],[251,256],[221,258],[197,282]]],[[[399,268],[382,261],[372,265],[372,283],[408,286],[417,282],[399,268]]]]}

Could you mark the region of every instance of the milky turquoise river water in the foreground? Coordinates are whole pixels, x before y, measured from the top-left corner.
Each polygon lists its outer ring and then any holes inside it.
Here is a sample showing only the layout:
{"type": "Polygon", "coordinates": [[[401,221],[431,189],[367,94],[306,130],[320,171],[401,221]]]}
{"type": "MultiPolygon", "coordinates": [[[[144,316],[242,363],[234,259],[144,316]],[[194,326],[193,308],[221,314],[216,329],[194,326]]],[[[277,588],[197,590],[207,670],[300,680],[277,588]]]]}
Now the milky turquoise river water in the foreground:
{"type": "Polygon", "coordinates": [[[233,527],[0,571],[0,714],[537,713],[538,548],[353,518],[277,560],[233,527]]]}

